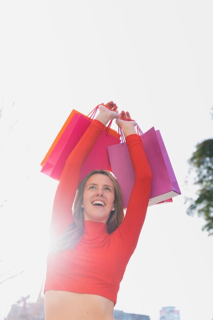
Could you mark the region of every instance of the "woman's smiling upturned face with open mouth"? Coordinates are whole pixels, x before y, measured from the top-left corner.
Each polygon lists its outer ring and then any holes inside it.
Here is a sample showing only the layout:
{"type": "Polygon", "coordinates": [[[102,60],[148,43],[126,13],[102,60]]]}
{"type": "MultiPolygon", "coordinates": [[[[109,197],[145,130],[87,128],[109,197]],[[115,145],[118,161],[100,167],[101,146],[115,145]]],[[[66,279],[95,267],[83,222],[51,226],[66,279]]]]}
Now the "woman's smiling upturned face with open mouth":
{"type": "Polygon", "coordinates": [[[115,187],[104,174],[93,174],[86,182],[83,193],[85,220],[106,223],[114,210],[115,187]]]}

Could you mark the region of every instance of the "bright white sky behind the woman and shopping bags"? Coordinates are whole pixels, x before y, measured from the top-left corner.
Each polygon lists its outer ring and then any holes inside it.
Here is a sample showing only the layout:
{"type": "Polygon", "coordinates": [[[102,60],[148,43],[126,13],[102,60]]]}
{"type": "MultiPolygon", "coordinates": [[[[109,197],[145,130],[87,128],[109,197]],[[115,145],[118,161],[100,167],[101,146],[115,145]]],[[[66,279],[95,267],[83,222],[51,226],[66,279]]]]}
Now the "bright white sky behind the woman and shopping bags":
{"type": "Polygon", "coordinates": [[[184,204],[195,196],[187,159],[212,136],[212,9],[206,0],[1,1],[0,275],[25,270],[0,285],[1,320],[21,295],[37,299],[44,277],[57,182],[39,164],[73,108],[110,100],[143,131],[161,130],[182,191],[148,209],[116,309],[158,320],[172,305],[181,320],[213,318],[213,238],[184,204]]]}

